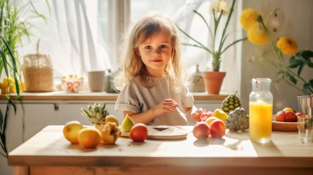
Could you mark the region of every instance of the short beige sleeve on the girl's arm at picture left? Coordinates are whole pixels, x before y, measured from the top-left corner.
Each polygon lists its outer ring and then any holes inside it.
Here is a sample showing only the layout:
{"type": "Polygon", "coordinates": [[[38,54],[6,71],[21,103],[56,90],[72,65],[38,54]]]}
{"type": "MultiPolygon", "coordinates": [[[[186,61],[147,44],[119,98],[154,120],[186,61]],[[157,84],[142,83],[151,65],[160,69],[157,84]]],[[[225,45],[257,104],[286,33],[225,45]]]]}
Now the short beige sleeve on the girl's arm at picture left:
{"type": "Polygon", "coordinates": [[[141,107],[134,88],[131,87],[130,83],[127,83],[116,99],[115,111],[132,111],[139,113],[141,112],[140,109],[141,107]]]}

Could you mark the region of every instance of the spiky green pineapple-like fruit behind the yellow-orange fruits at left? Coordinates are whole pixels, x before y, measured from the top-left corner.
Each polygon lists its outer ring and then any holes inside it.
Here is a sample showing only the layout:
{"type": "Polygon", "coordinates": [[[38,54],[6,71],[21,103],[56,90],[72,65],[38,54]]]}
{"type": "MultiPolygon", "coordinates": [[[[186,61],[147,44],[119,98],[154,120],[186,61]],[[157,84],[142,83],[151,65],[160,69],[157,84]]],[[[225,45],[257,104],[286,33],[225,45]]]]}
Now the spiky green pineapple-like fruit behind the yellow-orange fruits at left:
{"type": "Polygon", "coordinates": [[[80,113],[87,117],[93,125],[100,125],[104,122],[105,117],[108,115],[107,110],[105,109],[105,103],[96,102],[94,104],[88,105],[88,111],[80,108],[80,113]]]}

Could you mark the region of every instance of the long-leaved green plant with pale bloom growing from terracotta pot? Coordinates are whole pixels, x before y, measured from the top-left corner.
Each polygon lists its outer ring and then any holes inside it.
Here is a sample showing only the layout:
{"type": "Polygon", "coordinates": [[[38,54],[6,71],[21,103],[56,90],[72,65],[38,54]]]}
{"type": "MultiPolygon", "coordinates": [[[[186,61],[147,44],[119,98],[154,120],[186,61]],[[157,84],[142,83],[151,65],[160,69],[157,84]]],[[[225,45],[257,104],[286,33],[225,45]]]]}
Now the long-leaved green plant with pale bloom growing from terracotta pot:
{"type": "Polygon", "coordinates": [[[206,19],[202,16],[202,14],[200,14],[199,12],[197,12],[196,10],[193,10],[193,12],[195,14],[197,14],[199,17],[201,17],[203,19],[203,21],[205,22],[205,25],[207,26],[208,32],[209,32],[209,36],[211,38],[211,43],[209,45],[209,47],[205,46],[204,44],[198,42],[196,39],[194,39],[192,36],[190,36],[188,33],[186,33],[185,31],[183,31],[181,28],[178,27],[178,29],[185,34],[188,38],[190,38],[192,41],[194,41],[196,44],[189,44],[189,43],[183,43],[184,45],[189,45],[189,46],[194,46],[194,47],[198,47],[201,49],[204,49],[205,51],[209,52],[212,55],[212,68],[213,71],[219,71],[219,67],[220,67],[220,62],[221,62],[221,54],[224,53],[230,46],[234,45],[235,43],[245,40],[247,39],[246,37],[238,39],[233,41],[232,43],[224,46],[224,42],[227,38],[227,36],[229,34],[226,34],[226,29],[228,26],[228,23],[230,21],[230,17],[233,11],[233,6],[235,4],[235,0],[232,1],[231,7],[230,9],[228,9],[228,5],[225,1],[223,0],[216,0],[215,2],[213,2],[215,5],[211,6],[212,10],[212,14],[213,14],[213,18],[214,18],[214,27],[213,29],[208,25],[206,19]],[[229,10],[229,12],[228,12],[229,10]],[[228,12],[228,13],[227,13],[228,12]],[[218,38],[216,38],[216,33],[218,31],[218,26],[220,24],[220,19],[222,17],[222,15],[227,15],[227,21],[225,22],[224,26],[223,26],[223,30],[222,30],[222,34],[220,37],[220,40],[217,41],[218,38]]]}

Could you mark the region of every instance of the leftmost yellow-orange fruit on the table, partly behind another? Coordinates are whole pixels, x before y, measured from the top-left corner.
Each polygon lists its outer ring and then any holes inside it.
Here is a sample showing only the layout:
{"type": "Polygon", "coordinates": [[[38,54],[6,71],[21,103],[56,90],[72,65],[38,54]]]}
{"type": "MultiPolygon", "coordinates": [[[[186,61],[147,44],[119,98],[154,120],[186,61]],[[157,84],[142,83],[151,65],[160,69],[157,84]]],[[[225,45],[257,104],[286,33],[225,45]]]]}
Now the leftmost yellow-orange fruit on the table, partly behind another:
{"type": "Polygon", "coordinates": [[[69,121],[64,125],[63,135],[66,140],[72,144],[78,144],[78,133],[82,129],[82,125],[78,121],[69,121]]]}

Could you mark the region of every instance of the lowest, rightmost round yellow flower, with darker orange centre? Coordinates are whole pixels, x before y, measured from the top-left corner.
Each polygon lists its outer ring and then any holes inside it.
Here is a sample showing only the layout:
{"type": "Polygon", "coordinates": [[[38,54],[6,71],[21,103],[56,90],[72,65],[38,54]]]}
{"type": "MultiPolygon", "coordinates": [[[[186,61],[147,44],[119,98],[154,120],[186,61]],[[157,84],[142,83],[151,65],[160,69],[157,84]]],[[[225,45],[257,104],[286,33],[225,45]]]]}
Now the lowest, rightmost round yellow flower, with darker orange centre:
{"type": "Polygon", "coordinates": [[[285,55],[291,55],[298,50],[298,45],[290,37],[280,37],[276,42],[279,50],[285,55]]]}

